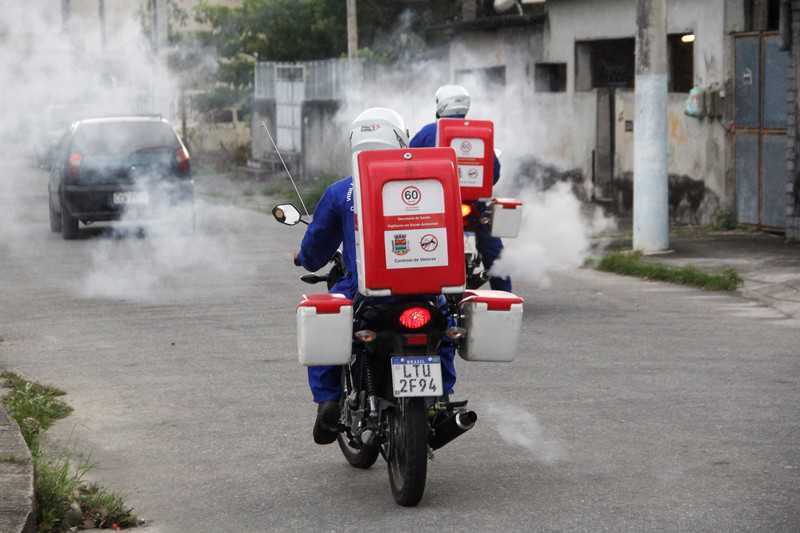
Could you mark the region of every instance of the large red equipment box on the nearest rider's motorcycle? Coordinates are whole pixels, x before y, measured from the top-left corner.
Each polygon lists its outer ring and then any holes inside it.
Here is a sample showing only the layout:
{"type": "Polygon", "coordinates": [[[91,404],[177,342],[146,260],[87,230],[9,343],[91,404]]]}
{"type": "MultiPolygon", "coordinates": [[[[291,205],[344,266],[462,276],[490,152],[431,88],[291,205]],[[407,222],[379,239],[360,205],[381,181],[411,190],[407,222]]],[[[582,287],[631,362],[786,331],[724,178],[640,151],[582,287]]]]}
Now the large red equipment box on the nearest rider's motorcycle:
{"type": "Polygon", "coordinates": [[[449,148],[353,156],[358,290],[365,296],[464,291],[464,227],[449,148]]]}

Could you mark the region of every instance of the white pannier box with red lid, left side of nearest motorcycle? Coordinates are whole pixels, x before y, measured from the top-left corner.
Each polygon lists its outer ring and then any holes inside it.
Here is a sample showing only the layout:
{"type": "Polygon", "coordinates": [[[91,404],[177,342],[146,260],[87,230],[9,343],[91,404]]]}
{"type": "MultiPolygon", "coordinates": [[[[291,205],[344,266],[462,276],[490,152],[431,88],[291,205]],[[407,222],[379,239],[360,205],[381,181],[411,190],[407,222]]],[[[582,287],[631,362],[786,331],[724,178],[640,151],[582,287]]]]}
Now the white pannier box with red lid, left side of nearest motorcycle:
{"type": "Polygon", "coordinates": [[[303,295],[297,306],[301,365],[344,365],[353,346],[353,302],[343,294],[303,295]]]}

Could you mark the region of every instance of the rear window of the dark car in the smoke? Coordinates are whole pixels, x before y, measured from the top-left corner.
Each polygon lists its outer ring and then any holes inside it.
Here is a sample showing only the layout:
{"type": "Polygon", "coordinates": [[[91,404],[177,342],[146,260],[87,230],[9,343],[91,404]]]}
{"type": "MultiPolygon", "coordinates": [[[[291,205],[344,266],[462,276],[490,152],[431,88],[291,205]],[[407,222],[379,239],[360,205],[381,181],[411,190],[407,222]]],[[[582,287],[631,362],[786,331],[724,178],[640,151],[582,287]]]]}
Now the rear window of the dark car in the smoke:
{"type": "Polygon", "coordinates": [[[178,148],[173,129],[163,122],[81,124],[73,149],[85,155],[126,156],[147,148],[178,148]]]}

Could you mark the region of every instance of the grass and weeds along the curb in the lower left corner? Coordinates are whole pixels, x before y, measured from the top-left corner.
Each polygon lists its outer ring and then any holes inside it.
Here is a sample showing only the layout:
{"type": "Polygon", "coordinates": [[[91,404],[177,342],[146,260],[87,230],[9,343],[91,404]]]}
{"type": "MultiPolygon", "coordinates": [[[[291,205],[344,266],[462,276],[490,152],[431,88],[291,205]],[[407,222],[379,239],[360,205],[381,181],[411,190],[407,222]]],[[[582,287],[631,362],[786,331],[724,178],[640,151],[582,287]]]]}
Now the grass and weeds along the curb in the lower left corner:
{"type": "Polygon", "coordinates": [[[9,389],[2,403],[19,424],[31,450],[38,531],[62,533],[73,528],[136,526],[133,509],[119,494],[86,481],[86,474],[93,468],[88,460],[54,458],[41,446],[41,435],[72,412],[72,407],[61,399],[65,392],[12,372],[3,372],[0,380],[9,389]]]}

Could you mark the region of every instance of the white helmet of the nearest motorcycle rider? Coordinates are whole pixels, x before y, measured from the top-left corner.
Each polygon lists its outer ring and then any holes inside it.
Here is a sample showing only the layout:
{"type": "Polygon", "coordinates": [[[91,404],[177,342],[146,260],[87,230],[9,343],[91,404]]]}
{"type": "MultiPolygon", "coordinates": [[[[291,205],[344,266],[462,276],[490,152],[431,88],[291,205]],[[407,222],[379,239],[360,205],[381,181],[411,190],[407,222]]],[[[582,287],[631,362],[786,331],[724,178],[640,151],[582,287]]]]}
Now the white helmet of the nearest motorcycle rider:
{"type": "Polygon", "coordinates": [[[387,150],[408,147],[408,129],[397,111],[371,107],[363,111],[350,126],[350,150],[387,150]]]}

